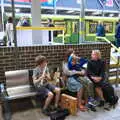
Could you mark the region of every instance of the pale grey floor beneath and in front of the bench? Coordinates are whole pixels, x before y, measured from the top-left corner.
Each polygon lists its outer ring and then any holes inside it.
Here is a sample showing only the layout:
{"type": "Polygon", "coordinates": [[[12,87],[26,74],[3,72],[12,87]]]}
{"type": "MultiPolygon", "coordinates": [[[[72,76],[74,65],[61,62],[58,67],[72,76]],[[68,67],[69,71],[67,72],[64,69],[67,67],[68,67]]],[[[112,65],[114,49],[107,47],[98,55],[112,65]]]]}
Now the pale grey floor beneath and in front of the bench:
{"type": "MultiPolygon", "coordinates": [[[[120,94],[119,88],[116,89],[117,94],[120,94]]],[[[120,95],[119,95],[120,96],[120,95]]],[[[24,103],[24,101],[22,101],[24,103]]],[[[23,104],[22,104],[23,105],[23,104]]],[[[23,106],[27,107],[24,103],[23,106]]],[[[34,108],[33,106],[28,107],[28,109],[22,109],[22,106],[17,104],[18,110],[14,107],[14,112],[12,115],[12,120],[50,120],[49,117],[43,115],[39,108],[34,108]],[[15,110],[16,109],[16,110],[15,110]]],[[[1,120],[1,119],[0,119],[1,120]]],[[[68,116],[65,120],[120,120],[120,100],[115,109],[110,111],[104,110],[103,108],[97,108],[97,112],[77,112],[76,116],[68,116]]]]}

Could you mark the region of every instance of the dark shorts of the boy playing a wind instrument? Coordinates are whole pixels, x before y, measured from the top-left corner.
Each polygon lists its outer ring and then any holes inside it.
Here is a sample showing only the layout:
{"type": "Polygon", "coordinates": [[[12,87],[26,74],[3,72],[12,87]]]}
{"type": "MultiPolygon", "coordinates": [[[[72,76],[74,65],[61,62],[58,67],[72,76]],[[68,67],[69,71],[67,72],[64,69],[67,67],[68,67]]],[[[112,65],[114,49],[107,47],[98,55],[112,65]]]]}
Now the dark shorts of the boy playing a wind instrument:
{"type": "Polygon", "coordinates": [[[56,86],[52,85],[50,83],[47,83],[45,86],[41,86],[41,87],[37,87],[37,91],[39,95],[42,95],[42,97],[47,97],[49,92],[53,92],[55,91],[56,86]]]}

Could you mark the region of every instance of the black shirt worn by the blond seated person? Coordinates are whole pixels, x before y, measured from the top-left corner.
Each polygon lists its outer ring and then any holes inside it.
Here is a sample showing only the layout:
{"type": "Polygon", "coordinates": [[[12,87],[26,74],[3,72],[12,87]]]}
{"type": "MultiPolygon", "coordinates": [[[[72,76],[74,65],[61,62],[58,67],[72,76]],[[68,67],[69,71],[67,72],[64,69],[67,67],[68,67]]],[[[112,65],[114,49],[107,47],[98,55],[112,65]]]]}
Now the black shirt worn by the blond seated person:
{"type": "Polygon", "coordinates": [[[92,80],[91,76],[102,77],[101,81],[103,81],[105,78],[105,63],[104,63],[104,61],[102,61],[101,59],[99,59],[97,61],[95,61],[95,60],[88,61],[87,75],[91,80],[92,80]]]}

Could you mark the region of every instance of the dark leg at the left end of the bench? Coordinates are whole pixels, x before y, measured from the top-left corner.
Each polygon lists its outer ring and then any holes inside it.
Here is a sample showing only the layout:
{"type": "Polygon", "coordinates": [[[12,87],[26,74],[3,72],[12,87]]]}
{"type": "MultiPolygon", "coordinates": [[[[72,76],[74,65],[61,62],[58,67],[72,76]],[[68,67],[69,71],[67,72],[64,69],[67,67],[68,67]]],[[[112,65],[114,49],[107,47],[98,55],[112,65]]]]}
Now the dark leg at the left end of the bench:
{"type": "Polygon", "coordinates": [[[4,116],[4,120],[12,119],[11,106],[7,100],[5,100],[3,103],[3,116],[4,116]]]}

